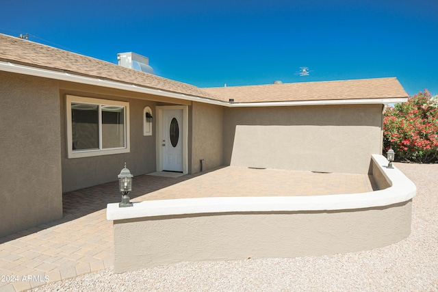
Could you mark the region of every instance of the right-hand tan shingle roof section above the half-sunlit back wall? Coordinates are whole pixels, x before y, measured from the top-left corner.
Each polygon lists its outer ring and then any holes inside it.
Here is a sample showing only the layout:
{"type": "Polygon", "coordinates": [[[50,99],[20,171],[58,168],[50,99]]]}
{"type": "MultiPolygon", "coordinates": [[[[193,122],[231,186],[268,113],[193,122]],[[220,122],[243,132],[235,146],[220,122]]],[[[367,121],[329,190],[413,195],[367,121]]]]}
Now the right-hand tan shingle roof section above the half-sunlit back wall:
{"type": "Polygon", "coordinates": [[[223,101],[234,98],[235,103],[408,97],[395,77],[231,86],[203,90],[219,96],[223,101]]]}

